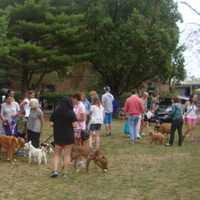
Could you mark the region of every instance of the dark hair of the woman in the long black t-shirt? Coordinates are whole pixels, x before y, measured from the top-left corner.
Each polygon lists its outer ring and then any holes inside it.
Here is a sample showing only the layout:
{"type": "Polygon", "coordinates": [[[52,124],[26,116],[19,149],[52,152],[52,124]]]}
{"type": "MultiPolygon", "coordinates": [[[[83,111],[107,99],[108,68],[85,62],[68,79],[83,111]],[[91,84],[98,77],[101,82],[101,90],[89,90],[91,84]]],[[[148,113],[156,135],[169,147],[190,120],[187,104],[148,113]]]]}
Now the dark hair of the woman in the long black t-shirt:
{"type": "Polygon", "coordinates": [[[56,113],[59,114],[66,114],[68,111],[72,111],[73,110],[73,104],[70,98],[68,97],[64,97],[58,104],[57,108],[56,108],[56,113]]]}

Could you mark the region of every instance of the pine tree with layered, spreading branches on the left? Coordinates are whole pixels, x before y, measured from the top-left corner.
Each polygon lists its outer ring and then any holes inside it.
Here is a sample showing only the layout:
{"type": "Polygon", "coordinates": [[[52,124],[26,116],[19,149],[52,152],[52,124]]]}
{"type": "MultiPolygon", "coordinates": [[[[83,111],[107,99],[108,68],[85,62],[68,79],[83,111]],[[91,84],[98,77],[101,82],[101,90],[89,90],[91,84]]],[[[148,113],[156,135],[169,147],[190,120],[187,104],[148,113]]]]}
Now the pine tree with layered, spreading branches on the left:
{"type": "Polygon", "coordinates": [[[82,15],[55,12],[47,0],[26,0],[8,9],[9,52],[1,63],[20,81],[21,91],[36,89],[46,74],[67,69],[84,57],[82,15]]]}

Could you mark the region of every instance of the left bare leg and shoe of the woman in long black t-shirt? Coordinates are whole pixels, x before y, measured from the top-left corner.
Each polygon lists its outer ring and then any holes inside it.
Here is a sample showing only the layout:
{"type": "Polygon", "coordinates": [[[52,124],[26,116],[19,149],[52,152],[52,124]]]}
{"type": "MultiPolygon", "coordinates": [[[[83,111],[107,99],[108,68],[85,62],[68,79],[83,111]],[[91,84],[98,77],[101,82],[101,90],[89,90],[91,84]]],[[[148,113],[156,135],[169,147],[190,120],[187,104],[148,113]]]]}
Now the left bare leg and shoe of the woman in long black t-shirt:
{"type": "Polygon", "coordinates": [[[54,156],[53,156],[53,172],[52,177],[58,176],[58,166],[60,163],[60,157],[61,157],[62,147],[59,145],[55,145],[54,148],[54,156]]]}

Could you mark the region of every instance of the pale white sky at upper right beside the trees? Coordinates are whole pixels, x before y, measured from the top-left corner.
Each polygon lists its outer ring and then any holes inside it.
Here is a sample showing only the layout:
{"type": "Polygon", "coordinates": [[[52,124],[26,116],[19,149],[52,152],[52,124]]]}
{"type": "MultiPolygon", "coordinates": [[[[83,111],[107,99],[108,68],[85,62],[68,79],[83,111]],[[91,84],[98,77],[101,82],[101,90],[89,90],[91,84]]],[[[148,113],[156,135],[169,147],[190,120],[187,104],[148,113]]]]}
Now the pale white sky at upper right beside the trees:
{"type": "MultiPolygon", "coordinates": [[[[190,4],[193,8],[195,8],[198,12],[200,12],[200,0],[177,0],[178,9],[182,14],[183,23],[178,23],[180,31],[181,31],[181,41],[184,41],[186,34],[188,34],[191,30],[199,29],[199,26],[192,25],[191,23],[200,24],[200,16],[198,16],[194,11],[188,8],[186,5],[182,4],[181,1],[185,1],[190,4]]],[[[199,34],[200,35],[200,34],[199,34]]],[[[197,39],[198,40],[198,39],[197,39]]],[[[196,41],[197,41],[196,40],[196,41]]],[[[189,76],[193,76],[195,78],[200,78],[200,52],[198,49],[200,48],[200,43],[198,41],[193,42],[192,46],[185,52],[185,60],[186,60],[186,71],[188,78],[189,76]]]]}

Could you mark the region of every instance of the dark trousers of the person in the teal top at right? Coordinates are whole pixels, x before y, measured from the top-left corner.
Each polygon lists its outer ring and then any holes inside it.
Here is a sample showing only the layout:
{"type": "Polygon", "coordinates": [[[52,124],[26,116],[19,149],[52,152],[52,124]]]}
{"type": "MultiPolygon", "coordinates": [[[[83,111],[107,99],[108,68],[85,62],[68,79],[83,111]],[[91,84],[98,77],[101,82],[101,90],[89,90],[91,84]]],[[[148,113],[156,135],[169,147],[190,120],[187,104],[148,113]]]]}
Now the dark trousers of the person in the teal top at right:
{"type": "Polygon", "coordinates": [[[171,131],[170,131],[170,139],[169,144],[173,145],[174,143],[174,135],[176,129],[178,130],[178,145],[181,146],[183,142],[183,134],[182,134],[182,128],[183,128],[183,120],[177,119],[172,121],[171,131]]]}

